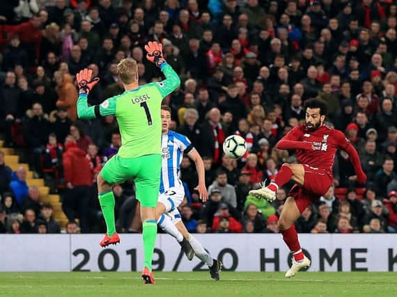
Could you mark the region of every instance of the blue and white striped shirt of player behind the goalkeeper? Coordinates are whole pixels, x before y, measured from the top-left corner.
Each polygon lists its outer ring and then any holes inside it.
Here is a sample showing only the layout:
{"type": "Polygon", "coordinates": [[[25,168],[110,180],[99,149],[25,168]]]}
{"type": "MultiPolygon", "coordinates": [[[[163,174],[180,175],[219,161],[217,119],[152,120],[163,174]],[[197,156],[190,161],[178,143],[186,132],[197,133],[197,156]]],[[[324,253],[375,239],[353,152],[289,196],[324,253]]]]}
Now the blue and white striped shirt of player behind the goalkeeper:
{"type": "Polygon", "coordinates": [[[169,131],[162,134],[162,177],[160,180],[160,193],[172,187],[182,187],[179,178],[180,163],[183,152],[189,153],[193,149],[189,138],[169,131]]]}

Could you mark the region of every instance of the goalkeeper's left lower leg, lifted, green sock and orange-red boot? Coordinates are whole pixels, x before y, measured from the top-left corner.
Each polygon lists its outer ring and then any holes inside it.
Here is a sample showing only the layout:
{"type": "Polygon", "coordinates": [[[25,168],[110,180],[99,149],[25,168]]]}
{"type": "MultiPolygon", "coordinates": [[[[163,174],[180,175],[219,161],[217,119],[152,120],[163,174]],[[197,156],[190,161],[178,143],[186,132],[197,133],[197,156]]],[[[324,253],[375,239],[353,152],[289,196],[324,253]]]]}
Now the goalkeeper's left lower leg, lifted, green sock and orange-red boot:
{"type": "Polygon", "coordinates": [[[110,184],[103,179],[101,174],[98,175],[98,193],[100,207],[107,228],[104,238],[100,241],[100,246],[104,248],[105,246],[109,246],[109,244],[119,243],[120,237],[116,233],[116,223],[114,220],[114,195],[110,184]]]}

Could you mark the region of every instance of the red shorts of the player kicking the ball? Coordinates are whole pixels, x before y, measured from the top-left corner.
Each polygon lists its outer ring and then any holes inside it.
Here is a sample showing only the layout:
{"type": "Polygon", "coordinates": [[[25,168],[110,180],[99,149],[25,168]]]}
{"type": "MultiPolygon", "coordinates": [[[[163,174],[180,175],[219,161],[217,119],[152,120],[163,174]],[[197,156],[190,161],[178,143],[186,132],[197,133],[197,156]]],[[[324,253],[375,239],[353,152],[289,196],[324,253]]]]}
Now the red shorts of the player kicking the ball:
{"type": "Polygon", "coordinates": [[[304,165],[304,185],[294,184],[287,197],[295,199],[299,212],[302,212],[311,203],[320,199],[332,186],[333,178],[321,169],[304,165]]]}

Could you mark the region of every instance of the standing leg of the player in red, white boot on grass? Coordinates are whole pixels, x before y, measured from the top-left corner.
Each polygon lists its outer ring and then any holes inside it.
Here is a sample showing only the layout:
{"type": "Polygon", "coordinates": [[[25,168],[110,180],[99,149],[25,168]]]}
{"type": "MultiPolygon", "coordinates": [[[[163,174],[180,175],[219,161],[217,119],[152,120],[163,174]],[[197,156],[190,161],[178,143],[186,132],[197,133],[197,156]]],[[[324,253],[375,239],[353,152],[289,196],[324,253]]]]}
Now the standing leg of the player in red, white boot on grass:
{"type": "Polygon", "coordinates": [[[288,197],[279,218],[279,230],[283,240],[293,253],[293,265],[286,272],[286,278],[293,277],[301,268],[310,266],[310,260],[302,252],[295,230],[294,222],[299,218],[300,212],[292,197],[288,197]]]}

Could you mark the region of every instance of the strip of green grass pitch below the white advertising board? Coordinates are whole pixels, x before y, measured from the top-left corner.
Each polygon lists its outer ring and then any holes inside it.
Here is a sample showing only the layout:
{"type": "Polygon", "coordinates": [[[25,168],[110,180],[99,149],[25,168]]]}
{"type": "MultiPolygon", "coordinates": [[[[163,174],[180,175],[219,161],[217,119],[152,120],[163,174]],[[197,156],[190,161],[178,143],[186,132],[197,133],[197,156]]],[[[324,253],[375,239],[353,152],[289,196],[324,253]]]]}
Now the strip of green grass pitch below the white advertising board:
{"type": "Polygon", "coordinates": [[[143,285],[139,273],[0,273],[0,296],[397,296],[396,273],[155,272],[157,284],[143,285]]]}

